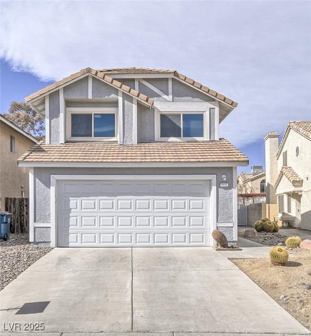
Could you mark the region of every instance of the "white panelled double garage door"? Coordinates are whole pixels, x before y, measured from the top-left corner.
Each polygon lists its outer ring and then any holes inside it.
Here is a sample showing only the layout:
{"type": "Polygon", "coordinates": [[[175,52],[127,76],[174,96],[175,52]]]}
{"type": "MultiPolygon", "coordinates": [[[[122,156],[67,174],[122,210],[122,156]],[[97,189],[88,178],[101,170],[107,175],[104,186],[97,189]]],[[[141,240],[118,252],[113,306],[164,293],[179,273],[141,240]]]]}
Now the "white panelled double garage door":
{"type": "Polygon", "coordinates": [[[57,246],[209,246],[210,181],[59,181],[57,246]]]}

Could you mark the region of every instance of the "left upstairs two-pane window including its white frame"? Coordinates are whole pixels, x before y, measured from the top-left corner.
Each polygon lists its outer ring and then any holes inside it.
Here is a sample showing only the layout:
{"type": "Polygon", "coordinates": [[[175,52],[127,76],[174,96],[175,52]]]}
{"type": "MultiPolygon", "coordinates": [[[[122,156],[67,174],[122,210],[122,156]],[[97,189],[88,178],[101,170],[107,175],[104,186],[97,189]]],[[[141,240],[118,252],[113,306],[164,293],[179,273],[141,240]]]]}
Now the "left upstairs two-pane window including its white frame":
{"type": "Polygon", "coordinates": [[[68,109],[68,139],[116,140],[117,110],[113,108],[68,109]]]}

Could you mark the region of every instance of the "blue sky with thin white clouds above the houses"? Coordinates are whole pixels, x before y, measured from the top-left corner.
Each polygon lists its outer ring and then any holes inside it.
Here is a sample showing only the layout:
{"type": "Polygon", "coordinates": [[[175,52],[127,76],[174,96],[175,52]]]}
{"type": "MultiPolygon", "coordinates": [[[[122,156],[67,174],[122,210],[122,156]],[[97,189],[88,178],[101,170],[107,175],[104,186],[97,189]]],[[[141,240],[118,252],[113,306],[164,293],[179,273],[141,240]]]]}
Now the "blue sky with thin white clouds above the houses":
{"type": "Polygon", "coordinates": [[[239,103],[220,135],[263,165],[269,131],[310,120],[310,17],[309,0],[0,0],[0,112],[88,66],[173,69],[239,103]]]}

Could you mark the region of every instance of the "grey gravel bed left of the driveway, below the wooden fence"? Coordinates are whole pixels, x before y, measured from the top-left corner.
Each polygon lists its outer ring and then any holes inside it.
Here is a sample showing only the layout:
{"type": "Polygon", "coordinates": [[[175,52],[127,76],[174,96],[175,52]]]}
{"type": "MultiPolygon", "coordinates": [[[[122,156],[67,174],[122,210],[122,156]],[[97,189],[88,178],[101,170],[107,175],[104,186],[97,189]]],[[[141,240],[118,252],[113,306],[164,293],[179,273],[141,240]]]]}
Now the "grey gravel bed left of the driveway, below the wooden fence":
{"type": "Polygon", "coordinates": [[[8,241],[0,241],[0,291],[51,250],[32,246],[28,234],[11,234],[8,241]]]}

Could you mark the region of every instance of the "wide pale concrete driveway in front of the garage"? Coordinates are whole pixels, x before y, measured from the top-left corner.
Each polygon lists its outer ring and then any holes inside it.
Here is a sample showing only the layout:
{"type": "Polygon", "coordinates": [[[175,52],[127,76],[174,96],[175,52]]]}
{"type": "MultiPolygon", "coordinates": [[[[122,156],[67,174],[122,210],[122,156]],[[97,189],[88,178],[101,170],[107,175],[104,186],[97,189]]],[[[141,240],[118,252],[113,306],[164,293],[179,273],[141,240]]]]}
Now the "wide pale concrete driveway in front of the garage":
{"type": "Polygon", "coordinates": [[[212,248],[55,248],[0,292],[0,321],[0,331],[309,333],[212,248]]]}

